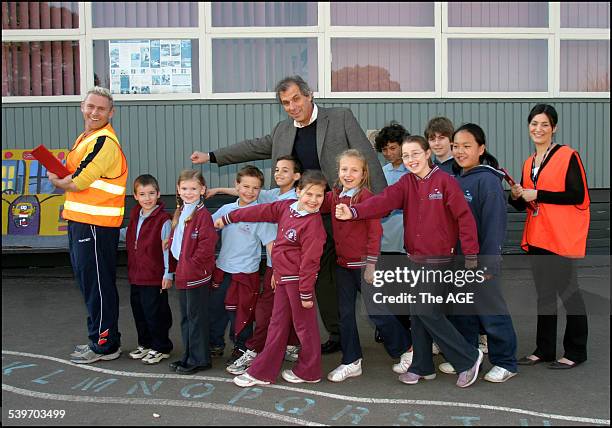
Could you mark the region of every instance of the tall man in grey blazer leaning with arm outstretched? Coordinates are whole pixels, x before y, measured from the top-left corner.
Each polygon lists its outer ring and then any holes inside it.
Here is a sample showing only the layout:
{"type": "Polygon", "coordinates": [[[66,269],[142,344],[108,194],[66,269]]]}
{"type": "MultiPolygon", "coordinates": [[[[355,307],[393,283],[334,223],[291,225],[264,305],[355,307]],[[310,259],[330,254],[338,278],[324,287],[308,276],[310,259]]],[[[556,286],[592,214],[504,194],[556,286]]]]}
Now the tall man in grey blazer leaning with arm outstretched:
{"type": "MultiPolygon", "coordinates": [[[[320,170],[332,187],[338,179],[337,156],[345,150],[357,149],[367,159],[372,191],[378,193],[386,187],[376,152],[349,109],[317,106],[313,102],[312,90],[300,76],[284,78],[275,90],[289,118],[279,122],[270,135],[244,140],[210,153],[194,152],[191,161],[196,164],[213,162],[223,166],[272,159],[272,165],[275,165],[279,157],[293,155],[302,163],[304,170],[320,170]]],[[[271,183],[274,183],[274,168],[271,183]]],[[[321,350],[330,353],[340,350],[340,329],[331,219],[329,216],[323,218],[328,241],[321,258],[316,293],[321,318],[330,333],[329,340],[321,350]]]]}

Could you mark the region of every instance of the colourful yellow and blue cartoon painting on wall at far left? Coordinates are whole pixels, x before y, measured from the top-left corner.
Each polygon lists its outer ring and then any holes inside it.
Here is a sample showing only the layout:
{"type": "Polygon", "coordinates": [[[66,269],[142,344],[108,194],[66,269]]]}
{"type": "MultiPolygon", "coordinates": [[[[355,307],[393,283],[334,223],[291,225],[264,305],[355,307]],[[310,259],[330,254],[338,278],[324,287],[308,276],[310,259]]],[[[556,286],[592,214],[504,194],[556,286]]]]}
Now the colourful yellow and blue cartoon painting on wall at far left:
{"type": "MultiPolygon", "coordinates": [[[[51,150],[65,164],[66,150],[51,150]]],[[[65,235],[64,191],[47,178],[31,150],[2,150],[2,234],[65,235]]]]}

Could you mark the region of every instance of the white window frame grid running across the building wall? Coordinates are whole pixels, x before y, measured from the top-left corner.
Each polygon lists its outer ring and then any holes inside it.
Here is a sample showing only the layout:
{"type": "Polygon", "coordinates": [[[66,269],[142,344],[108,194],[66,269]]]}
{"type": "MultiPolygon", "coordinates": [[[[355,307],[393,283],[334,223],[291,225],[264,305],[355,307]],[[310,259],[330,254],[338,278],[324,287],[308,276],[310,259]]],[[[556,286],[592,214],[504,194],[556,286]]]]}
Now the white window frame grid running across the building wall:
{"type": "Polygon", "coordinates": [[[609,28],[561,28],[558,2],[549,2],[548,28],[449,27],[448,3],[434,2],[433,27],[332,26],[331,5],[318,2],[317,25],[300,27],[212,27],[211,2],[198,3],[198,26],[188,28],[93,28],[92,3],[78,2],[79,28],[45,30],[2,30],[3,42],[64,41],[79,43],[81,95],[9,96],[2,103],[80,101],[93,86],[94,40],[189,39],[198,40],[199,92],[187,94],[114,94],[117,101],[141,100],[240,100],[274,99],[273,92],[212,92],[212,40],[215,38],[317,38],[317,98],[390,99],[390,98],[609,98],[610,92],[561,92],[560,49],[562,40],[610,40],[609,28]],[[435,90],[433,92],[332,92],[332,38],[434,39],[435,90]],[[475,39],[546,39],[548,40],[548,91],[546,92],[450,92],[448,91],[448,40],[475,39]]]}

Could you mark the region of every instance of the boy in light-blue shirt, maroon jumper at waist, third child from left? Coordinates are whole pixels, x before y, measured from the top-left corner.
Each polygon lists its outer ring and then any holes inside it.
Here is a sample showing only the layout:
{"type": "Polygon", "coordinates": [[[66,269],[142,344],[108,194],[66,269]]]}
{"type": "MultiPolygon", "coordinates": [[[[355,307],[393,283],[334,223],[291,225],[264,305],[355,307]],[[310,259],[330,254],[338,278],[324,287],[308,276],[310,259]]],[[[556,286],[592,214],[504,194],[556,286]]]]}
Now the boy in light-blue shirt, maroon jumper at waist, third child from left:
{"type": "MultiPolygon", "coordinates": [[[[254,166],[247,165],[238,171],[238,200],[219,208],[213,221],[234,210],[257,205],[263,180],[263,173],[254,166]]],[[[228,365],[243,355],[247,349],[245,342],[253,333],[252,323],[260,290],[261,245],[270,244],[274,232],[270,224],[243,222],[226,228],[221,234],[221,252],[215,274],[218,276],[215,283],[220,287],[212,292],[210,301],[211,341],[213,344],[223,341],[227,311],[234,340],[234,352],[228,365]]]]}

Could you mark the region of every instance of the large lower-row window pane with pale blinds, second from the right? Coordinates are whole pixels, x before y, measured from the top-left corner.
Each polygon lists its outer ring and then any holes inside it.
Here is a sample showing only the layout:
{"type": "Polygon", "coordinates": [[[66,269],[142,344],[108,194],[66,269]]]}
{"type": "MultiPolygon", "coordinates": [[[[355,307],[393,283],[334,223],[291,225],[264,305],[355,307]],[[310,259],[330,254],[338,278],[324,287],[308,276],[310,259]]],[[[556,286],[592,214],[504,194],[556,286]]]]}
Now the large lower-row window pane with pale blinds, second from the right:
{"type": "Polygon", "coordinates": [[[449,39],[452,92],[547,92],[548,41],[449,39]]]}

